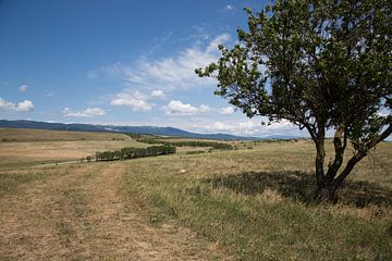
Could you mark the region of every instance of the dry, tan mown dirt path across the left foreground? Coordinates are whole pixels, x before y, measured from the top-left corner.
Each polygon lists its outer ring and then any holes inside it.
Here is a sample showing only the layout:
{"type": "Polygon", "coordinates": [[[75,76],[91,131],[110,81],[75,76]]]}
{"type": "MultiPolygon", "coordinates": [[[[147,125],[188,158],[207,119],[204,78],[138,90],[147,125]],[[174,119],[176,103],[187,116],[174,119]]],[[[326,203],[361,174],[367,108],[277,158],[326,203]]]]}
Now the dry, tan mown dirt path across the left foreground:
{"type": "Polygon", "coordinates": [[[191,231],[138,214],[121,190],[124,171],[121,162],[73,166],[0,199],[0,260],[210,259],[213,246],[191,231]]]}

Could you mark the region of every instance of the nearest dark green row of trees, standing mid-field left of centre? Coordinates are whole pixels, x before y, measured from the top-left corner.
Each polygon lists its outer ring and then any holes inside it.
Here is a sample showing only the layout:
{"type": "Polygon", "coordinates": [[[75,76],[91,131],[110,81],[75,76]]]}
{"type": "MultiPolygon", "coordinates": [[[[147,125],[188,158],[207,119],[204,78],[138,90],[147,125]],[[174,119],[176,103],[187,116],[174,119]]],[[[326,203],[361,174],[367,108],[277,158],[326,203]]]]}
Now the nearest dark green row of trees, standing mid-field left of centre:
{"type": "Polygon", "coordinates": [[[123,148],[115,151],[97,152],[95,158],[96,161],[117,161],[170,153],[175,153],[175,147],[163,145],[147,148],[123,148]]]}

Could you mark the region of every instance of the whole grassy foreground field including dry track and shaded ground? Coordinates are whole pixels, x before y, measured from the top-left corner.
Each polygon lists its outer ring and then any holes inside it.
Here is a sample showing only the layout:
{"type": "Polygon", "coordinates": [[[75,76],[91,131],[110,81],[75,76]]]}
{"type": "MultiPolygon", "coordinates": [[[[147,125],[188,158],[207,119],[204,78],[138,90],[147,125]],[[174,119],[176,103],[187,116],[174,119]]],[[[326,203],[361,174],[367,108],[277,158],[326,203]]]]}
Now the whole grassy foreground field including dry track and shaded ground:
{"type": "MultiPolygon", "coordinates": [[[[23,161],[16,144],[1,147],[23,161]]],[[[235,145],[42,169],[10,162],[0,169],[0,260],[392,260],[391,142],[356,166],[334,206],[311,202],[311,141],[235,145]]]]}

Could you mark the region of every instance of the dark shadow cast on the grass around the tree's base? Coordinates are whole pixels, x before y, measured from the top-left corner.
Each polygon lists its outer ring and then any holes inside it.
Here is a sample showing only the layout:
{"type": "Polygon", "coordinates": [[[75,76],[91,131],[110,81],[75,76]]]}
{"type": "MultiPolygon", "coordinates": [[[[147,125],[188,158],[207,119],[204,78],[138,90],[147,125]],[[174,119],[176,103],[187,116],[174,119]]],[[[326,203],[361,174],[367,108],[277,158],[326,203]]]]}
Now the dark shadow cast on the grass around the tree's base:
{"type": "MultiPolygon", "coordinates": [[[[245,195],[275,190],[287,198],[313,203],[316,189],[315,175],[294,172],[247,172],[207,178],[203,182],[212,188],[224,187],[245,195]]],[[[363,208],[366,206],[392,206],[392,190],[375,183],[346,181],[338,191],[339,201],[363,208]]]]}

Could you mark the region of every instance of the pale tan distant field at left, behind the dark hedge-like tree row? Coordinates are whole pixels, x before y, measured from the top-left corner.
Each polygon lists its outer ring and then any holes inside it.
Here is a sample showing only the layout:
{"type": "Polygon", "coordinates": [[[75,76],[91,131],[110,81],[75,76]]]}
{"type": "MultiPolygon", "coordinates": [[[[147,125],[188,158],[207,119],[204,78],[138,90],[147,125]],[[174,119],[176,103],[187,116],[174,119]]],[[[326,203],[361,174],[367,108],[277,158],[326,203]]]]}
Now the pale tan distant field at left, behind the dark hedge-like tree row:
{"type": "Polygon", "coordinates": [[[0,128],[0,169],[77,161],[97,151],[146,146],[118,133],[0,128]]]}

